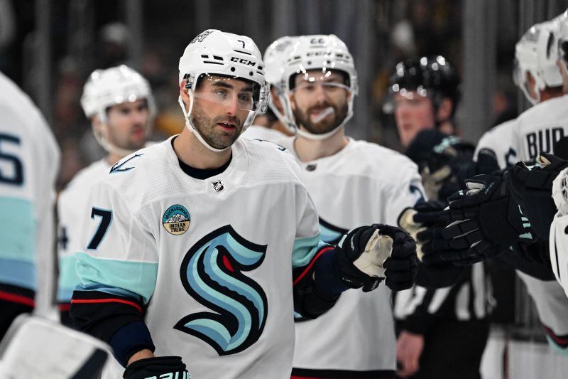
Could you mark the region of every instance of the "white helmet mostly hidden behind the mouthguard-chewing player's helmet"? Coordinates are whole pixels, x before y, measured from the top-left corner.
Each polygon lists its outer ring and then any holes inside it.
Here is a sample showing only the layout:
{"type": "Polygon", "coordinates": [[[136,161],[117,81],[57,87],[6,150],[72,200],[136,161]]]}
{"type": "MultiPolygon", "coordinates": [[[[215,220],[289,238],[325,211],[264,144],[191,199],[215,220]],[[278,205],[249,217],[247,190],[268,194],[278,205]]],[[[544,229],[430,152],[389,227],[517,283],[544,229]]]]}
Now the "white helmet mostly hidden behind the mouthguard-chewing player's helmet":
{"type": "Polygon", "coordinates": [[[273,43],[271,43],[266,51],[264,52],[264,64],[266,65],[266,82],[268,82],[271,87],[273,87],[278,94],[280,103],[284,108],[284,114],[282,114],[278,107],[275,106],[273,98],[271,96],[268,106],[271,107],[272,112],[275,116],[282,122],[283,125],[291,129],[290,116],[287,112],[286,100],[285,100],[285,78],[284,78],[284,65],[290,55],[290,50],[293,48],[293,42],[297,37],[280,37],[273,43]]]}

